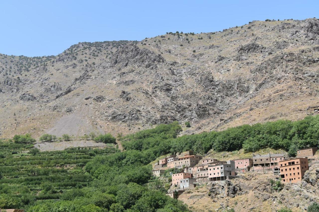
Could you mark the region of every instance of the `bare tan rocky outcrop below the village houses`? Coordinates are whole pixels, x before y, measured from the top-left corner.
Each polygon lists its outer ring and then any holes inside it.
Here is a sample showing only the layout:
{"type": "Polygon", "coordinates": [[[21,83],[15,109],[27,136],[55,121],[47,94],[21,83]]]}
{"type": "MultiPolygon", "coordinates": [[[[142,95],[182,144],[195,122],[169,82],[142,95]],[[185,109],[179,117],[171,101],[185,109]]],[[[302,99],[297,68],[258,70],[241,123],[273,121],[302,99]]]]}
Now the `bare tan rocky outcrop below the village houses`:
{"type": "MultiPolygon", "coordinates": [[[[319,154],[309,157],[309,170],[301,183],[287,183],[276,191],[270,180],[277,180],[269,171],[238,173],[236,179],[203,183],[188,189],[178,199],[184,201],[192,211],[226,211],[234,208],[238,212],[277,211],[290,208],[294,212],[307,210],[319,201],[319,154]]],[[[278,177],[278,175],[277,175],[278,177]]]]}

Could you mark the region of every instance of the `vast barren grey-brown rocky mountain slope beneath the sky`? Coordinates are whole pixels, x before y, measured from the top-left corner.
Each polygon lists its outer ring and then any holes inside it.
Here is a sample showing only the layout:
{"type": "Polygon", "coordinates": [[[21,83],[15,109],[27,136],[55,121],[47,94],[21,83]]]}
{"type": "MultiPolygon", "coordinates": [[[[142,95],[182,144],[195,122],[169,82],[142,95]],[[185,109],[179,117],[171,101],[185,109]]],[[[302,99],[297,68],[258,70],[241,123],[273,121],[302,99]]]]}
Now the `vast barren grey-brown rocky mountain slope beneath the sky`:
{"type": "Polygon", "coordinates": [[[319,105],[318,67],[316,18],[78,43],[57,56],[0,54],[0,137],[296,120],[319,105]]]}

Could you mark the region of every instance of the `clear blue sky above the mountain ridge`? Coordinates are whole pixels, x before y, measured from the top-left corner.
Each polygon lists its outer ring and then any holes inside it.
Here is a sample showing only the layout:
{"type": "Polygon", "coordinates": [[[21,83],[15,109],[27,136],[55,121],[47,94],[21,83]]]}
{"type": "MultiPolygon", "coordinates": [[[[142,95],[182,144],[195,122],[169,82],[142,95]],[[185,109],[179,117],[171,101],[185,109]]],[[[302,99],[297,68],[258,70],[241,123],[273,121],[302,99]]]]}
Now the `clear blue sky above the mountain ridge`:
{"type": "Polygon", "coordinates": [[[0,1],[0,53],[56,55],[78,42],[215,32],[252,20],[319,18],[319,1],[0,1]]]}

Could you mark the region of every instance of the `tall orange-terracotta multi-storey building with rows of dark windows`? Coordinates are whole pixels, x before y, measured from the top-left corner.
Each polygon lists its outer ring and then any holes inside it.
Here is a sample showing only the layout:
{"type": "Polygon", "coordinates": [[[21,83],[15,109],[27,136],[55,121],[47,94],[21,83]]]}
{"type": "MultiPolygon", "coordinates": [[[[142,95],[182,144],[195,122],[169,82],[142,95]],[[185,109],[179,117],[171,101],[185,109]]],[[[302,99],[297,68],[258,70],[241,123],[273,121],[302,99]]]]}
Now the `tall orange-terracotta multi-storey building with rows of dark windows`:
{"type": "Polygon", "coordinates": [[[308,158],[288,158],[279,162],[280,177],[284,182],[297,183],[309,169],[308,158]]]}

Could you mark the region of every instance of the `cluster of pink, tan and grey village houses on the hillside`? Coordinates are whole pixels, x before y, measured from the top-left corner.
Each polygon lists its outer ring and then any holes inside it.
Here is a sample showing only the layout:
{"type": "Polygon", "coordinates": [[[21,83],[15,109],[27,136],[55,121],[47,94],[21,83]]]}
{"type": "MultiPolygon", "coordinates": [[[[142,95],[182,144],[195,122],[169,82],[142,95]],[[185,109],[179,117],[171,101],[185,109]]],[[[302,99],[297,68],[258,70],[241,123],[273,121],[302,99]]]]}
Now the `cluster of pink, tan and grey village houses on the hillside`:
{"type": "Polygon", "coordinates": [[[252,158],[219,161],[203,158],[193,151],[179,155],[169,155],[153,164],[152,173],[160,177],[168,169],[178,169],[179,173],[170,173],[172,184],[167,195],[178,198],[185,189],[192,189],[200,183],[223,181],[236,178],[239,173],[272,172],[283,183],[299,183],[309,169],[308,157],[315,154],[317,148],[297,150],[297,156],[286,158],[284,153],[252,154],[252,158]]]}

